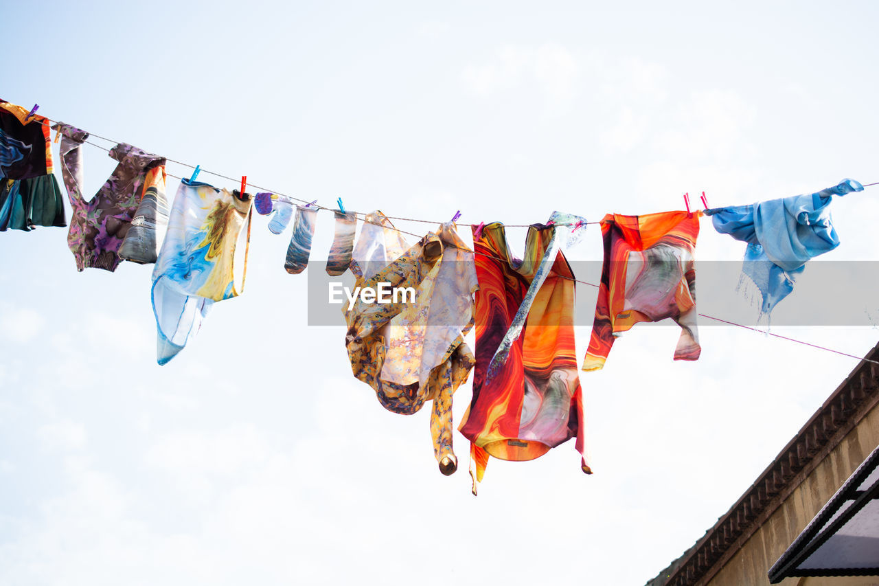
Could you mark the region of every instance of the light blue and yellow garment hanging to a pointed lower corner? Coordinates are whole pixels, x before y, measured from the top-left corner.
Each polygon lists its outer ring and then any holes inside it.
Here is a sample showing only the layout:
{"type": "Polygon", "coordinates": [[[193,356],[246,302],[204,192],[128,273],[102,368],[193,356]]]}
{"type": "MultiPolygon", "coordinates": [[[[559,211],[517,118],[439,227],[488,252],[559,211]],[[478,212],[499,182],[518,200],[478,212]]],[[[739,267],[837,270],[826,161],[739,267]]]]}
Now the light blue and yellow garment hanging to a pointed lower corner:
{"type": "Polygon", "coordinates": [[[180,182],[152,277],[159,364],[198,333],[215,301],[241,293],[252,203],[249,194],[243,197],[207,183],[180,182]]]}

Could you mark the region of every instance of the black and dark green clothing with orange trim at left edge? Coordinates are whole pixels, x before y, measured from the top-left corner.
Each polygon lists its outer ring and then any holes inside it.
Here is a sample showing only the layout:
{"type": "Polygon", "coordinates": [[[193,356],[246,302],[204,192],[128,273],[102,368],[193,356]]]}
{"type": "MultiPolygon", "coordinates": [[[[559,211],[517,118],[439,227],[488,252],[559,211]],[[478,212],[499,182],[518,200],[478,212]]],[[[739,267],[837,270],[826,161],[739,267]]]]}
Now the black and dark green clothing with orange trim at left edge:
{"type": "Polygon", "coordinates": [[[0,100],[0,231],[67,225],[46,118],[0,100]]]}

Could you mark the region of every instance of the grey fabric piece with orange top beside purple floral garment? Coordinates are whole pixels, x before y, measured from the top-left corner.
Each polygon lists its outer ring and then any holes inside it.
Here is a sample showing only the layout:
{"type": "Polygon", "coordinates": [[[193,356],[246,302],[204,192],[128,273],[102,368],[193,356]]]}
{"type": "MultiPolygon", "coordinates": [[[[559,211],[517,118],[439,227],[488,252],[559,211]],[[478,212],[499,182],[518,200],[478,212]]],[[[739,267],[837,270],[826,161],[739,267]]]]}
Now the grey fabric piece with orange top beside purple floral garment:
{"type": "Polygon", "coordinates": [[[141,264],[156,262],[168,229],[166,179],[164,165],[150,167],[144,175],[141,202],[120,245],[120,259],[141,264]]]}

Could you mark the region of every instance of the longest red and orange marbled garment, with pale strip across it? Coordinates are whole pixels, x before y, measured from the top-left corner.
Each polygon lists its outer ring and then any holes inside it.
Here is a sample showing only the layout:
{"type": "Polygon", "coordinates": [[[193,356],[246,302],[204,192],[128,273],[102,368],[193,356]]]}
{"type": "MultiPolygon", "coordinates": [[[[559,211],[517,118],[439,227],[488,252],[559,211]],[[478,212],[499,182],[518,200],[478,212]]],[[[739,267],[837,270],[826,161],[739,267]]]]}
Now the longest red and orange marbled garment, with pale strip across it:
{"type": "MultiPolygon", "coordinates": [[[[552,218],[567,217],[554,213],[552,218]]],[[[555,221],[551,219],[551,221],[555,221]]],[[[574,275],[557,238],[567,227],[555,223],[528,228],[523,260],[513,257],[504,224],[474,226],[476,276],[476,370],[473,398],[459,429],[470,440],[473,494],[489,456],[524,461],[576,437],[585,460],[583,399],[574,348],[574,275]],[[563,231],[557,234],[557,231],[563,231]],[[545,265],[549,265],[547,271],[545,265]],[[535,279],[542,280],[536,291],[535,279]],[[519,335],[519,307],[527,304],[519,335]],[[512,331],[505,359],[492,358],[512,331]]]]}

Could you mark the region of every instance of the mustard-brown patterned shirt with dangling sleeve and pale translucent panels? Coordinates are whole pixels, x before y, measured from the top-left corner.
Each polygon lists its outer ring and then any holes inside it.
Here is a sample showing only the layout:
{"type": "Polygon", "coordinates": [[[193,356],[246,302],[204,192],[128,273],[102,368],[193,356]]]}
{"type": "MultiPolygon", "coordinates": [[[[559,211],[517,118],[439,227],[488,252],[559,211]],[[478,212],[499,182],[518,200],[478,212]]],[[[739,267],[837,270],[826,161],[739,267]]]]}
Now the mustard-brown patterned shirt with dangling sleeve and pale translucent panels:
{"type": "Polygon", "coordinates": [[[381,213],[367,215],[352,272],[361,290],[381,291],[380,283],[386,285],[390,303],[366,303],[360,297],[345,311],[345,347],[354,376],[372,386],[389,411],[414,414],[425,401],[433,401],[433,455],[439,471],[449,475],[458,465],[452,396],[474,363],[464,343],[473,326],[473,253],[452,223],[405,252],[399,249],[404,240],[387,226],[381,213]],[[414,295],[397,296],[408,288],[414,295]]]}

